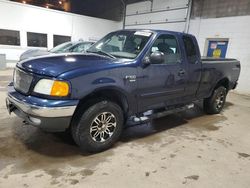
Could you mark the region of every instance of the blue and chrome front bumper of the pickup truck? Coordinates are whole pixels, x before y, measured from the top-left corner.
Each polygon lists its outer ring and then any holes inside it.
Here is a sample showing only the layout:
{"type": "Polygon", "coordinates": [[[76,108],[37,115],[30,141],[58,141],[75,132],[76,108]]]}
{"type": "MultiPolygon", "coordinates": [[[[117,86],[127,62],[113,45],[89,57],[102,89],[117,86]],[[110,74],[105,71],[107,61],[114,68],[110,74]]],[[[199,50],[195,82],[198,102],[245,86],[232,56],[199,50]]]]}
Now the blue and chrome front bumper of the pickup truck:
{"type": "Polygon", "coordinates": [[[9,113],[14,112],[28,124],[46,131],[64,131],[70,126],[78,100],[48,100],[25,96],[13,86],[8,87],[6,106],[9,113]]]}

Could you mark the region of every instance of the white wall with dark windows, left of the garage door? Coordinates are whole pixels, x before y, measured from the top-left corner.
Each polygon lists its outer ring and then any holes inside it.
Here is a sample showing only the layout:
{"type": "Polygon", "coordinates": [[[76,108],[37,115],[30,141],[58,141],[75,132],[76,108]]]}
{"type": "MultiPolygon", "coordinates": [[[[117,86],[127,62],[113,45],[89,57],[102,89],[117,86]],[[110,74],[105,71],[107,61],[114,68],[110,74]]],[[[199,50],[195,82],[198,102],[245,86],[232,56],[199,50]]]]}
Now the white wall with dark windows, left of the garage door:
{"type": "Polygon", "coordinates": [[[0,45],[0,53],[6,54],[8,61],[17,61],[22,52],[30,49],[26,32],[48,34],[50,49],[53,47],[53,34],[71,36],[73,41],[93,40],[121,28],[121,22],[0,0],[0,29],[20,31],[21,38],[21,46],[0,45]]]}

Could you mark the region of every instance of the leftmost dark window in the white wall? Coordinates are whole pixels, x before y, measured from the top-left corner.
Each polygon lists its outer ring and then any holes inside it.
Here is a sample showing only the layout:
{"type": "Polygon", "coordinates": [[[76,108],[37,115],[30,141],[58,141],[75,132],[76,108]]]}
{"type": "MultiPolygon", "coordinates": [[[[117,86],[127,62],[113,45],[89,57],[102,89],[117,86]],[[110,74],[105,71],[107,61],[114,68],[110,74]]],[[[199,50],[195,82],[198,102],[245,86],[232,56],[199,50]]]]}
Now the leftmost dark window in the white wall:
{"type": "Polygon", "coordinates": [[[20,46],[20,32],[0,29],[0,44],[20,46]]]}

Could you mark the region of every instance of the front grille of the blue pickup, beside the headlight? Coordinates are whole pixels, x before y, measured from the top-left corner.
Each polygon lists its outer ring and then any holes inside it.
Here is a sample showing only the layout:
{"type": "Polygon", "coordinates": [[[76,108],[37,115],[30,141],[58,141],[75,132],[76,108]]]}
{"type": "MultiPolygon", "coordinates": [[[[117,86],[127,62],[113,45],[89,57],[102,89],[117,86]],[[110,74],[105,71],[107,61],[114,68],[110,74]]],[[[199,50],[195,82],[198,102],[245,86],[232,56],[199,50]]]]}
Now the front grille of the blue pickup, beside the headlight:
{"type": "Polygon", "coordinates": [[[29,92],[32,80],[33,80],[32,75],[30,75],[30,74],[28,74],[20,69],[15,69],[14,87],[16,90],[27,94],[29,92]]]}

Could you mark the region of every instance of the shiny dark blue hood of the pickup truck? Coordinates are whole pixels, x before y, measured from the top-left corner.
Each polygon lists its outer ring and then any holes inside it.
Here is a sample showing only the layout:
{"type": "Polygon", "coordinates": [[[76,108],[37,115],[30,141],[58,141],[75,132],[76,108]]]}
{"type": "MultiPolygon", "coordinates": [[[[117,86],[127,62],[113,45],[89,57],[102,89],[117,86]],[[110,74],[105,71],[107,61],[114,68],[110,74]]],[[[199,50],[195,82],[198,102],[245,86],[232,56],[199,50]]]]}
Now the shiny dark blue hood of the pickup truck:
{"type": "Polygon", "coordinates": [[[17,67],[32,73],[57,77],[75,69],[99,70],[117,63],[120,64],[121,60],[97,54],[60,54],[20,61],[17,67]]]}

